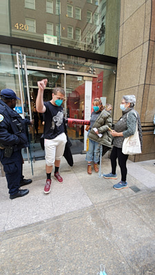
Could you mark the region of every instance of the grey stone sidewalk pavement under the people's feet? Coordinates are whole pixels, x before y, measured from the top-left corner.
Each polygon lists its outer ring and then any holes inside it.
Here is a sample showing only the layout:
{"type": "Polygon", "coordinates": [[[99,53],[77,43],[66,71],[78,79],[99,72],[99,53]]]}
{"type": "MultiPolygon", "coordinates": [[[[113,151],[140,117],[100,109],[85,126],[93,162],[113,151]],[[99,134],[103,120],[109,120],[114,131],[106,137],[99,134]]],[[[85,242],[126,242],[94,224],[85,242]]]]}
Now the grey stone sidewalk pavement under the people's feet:
{"type": "MultiPolygon", "coordinates": [[[[87,175],[85,155],[74,166],[62,159],[63,184],[52,174],[52,188],[43,193],[45,160],[23,165],[25,197],[9,199],[6,177],[0,175],[1,275],[155,274],[155,166],[127,161],[128,189],[114,190],[120,179],[87,175]]],[[[110,159],[103,157],[102,172],[110,159]]]]}

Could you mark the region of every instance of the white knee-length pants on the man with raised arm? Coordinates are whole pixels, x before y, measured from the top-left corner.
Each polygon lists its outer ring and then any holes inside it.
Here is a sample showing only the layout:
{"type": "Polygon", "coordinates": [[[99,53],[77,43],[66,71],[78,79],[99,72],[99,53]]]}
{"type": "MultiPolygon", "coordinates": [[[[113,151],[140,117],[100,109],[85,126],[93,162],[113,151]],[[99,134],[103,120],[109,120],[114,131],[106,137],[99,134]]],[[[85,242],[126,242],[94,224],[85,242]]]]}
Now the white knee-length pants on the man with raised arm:
{"type": "Polygon", "coordinates": [[[45,162],[48,166],[53,166],[55,160],[60,160],[65,150],[67,137],[65,133],[57,135],[53,140],[44,140],[45,162]]]}

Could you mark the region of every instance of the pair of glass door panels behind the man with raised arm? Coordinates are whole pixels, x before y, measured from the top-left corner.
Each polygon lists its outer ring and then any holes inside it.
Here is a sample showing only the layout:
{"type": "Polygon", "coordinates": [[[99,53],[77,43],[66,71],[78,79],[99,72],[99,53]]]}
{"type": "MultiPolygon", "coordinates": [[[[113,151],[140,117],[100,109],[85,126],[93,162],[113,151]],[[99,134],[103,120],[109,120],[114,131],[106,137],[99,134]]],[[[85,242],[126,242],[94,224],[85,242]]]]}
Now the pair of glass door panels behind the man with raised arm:
{"type": "MultiPolygon", "coordinates": [[[[84,119],[85,81],[82,76],[72,76],[53,72],[37,71],[28,69],[28,85],[30,92],[30,109],[34,126],[30,130],[32,159],[41,159],[45,152],[41,149],[40,137],[43,134],[43,114],[36,110],[36,98],[38,93],[37,81],[48,78],[48,85],[43,94],[45,102],[52,99],[54,87],[66,87],[66,100],[63,105],[66,118],[84,119]],[[66,84],[65,81],[66,80],[66,84]],[[66,112],[66,113],[65,113],[66,112]]],[[[26,111],[28,113],[28,99],[25,97],[26,111]]],[[[84,149],[84,126],[73,125],[68,127],[68,136],[72,143],[73,154],[82,153],[84,149]]],[[[25,156],[26,157],[26,156],[25,156]]]]}

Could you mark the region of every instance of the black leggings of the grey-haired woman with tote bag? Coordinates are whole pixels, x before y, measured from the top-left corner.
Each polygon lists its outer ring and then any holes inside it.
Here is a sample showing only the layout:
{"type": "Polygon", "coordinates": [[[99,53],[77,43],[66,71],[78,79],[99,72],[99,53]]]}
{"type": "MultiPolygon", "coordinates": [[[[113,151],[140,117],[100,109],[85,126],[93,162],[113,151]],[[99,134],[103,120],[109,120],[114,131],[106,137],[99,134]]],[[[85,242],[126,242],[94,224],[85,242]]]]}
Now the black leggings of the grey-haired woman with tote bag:
{"type": "Polygon", "coordinates": [[[116,159],[118,158],[118,164],[121,168],[121,180],[126,181],[127,178],[127,158],[129,155],[124,155],[122,153],[122,148],[113,147],[112,153],[110,155],[111,164],[112,164],[112,174],[116,174],[116,159]]]}

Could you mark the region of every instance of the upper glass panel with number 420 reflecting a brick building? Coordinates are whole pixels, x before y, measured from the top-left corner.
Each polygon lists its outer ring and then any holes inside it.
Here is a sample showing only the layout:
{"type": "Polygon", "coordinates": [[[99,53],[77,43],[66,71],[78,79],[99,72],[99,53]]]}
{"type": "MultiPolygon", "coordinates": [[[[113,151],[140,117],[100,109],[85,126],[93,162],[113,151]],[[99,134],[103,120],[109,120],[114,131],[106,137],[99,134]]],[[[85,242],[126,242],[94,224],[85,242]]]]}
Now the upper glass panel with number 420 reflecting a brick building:
{"type": "Polygon", "coordinates": [[[0,34],[117,56],[120,3],[121,0],[31,0],[18,1],[17,9],[14,0],[5,1],[6,24],[0,34]]]}

